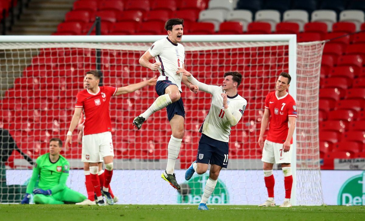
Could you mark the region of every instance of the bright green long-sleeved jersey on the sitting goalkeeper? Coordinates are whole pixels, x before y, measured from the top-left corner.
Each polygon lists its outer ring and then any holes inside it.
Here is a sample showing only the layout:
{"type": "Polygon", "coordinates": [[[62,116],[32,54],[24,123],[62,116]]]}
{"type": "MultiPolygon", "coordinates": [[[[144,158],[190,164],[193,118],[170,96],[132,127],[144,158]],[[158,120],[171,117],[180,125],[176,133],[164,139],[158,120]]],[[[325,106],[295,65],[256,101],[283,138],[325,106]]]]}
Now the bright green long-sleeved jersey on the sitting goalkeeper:
{"type": "Polygon", "coordinates": [[[55,194],[66,187],[66,181],[69,176],[70,163],[66,158],[59,155],[56,162],[51,162],[49,153],[43,154],[37,158],[33,168],[32,177],[27,186],[27,193],[31,194],[37,179],[39,178],[38,188],[51,190],[55,194]]]}

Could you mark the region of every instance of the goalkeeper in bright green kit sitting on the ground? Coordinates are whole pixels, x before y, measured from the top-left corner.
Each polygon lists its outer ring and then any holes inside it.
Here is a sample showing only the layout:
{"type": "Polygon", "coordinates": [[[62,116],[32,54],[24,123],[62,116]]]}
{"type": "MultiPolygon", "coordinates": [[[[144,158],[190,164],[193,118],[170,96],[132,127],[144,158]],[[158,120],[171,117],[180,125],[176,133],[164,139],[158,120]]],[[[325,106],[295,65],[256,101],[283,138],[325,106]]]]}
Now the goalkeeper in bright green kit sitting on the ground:
{"type": "Polygon", "coordinates": [[[70,163],[59,155],[61,148],[61,139],[52,138],[49,142],[49,153],[37,158],[22,204],[29,203],[32,192],[35,194],[34,203],[37,204],[78,203],[86,199],[86,196],[66,187],[70,163]],[[38,188],[34,189],[38,178],[38,188]]]}

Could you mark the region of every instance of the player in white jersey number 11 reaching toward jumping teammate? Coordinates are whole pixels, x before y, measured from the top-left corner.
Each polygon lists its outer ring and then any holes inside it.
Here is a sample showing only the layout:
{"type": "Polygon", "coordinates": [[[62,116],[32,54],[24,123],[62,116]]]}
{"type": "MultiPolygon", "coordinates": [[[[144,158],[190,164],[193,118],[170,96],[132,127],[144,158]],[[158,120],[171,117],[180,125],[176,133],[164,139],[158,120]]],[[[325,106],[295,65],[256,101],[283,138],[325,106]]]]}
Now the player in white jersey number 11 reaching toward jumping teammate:
{"type": "Polygon", "coordinates": [[[194,172],[207,172],[210,164],[209,179],[204,187],[199,210],[208,210],[208,198],[214,191],[220,170],[228,165],[228,141],[231,127],[235,126],[246,109],[247,101],[237,93],[242,75],[238,72],[227,72],[223,79],[223,86],[206,85],[196,80],[188,71],[179,70],[188,80],[197,85],[199,90],[212,94],[212,104],[209,113],[200,127],[196,161],[185,172],[185,180],[190,180],[194,172]]]}

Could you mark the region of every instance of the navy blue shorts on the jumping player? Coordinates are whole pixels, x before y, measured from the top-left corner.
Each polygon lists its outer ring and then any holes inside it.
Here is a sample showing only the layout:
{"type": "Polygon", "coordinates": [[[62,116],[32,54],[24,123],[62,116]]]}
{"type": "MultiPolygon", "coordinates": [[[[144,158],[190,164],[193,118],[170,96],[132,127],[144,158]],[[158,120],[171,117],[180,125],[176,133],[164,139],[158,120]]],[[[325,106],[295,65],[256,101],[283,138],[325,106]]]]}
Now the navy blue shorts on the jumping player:
{"type": "MultiPolygon", "coordinates": [[[[158,96],[164,95],[166,87],[168,87],[170,85],[176,85],[176,84],[172,83],[169,80],[159,80],[156,83],[156,92],[157,92],[158,96]]],[[[174,117],[175,114],[183,116],[185,118],[183,98],[180,97],[180,100],[168,105],[166,107],[166,112],[167,112],[167,118],[169,119],[169,121],[174,117]]]]}

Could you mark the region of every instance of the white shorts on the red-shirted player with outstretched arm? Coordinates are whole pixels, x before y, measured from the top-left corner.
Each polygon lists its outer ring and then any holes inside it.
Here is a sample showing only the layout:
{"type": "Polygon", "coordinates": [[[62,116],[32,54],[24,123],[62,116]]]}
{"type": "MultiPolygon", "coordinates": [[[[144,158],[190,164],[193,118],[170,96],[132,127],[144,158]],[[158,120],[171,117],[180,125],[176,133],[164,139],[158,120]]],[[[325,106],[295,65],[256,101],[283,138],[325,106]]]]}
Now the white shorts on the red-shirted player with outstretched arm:
{"type": "Polygon", "coordinates": [[[114,157],[111,132],[82,136],[82,162],[97,163],[106,156],[114,157]]]}

